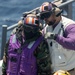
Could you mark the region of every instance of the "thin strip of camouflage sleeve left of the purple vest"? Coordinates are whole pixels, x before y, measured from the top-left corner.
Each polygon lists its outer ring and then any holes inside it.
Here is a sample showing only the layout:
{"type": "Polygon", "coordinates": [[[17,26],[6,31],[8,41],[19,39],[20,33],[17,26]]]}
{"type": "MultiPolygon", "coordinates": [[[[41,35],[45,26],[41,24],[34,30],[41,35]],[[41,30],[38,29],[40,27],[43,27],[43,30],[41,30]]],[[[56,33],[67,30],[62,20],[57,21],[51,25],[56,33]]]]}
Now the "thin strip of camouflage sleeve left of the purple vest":
{"type": "Polygon", "coordinates": [[[3,56],[3,63],[2,63],[2,75],[6,74],[6,68],[7,68],[7,50],[8,50],[9,41],[6,43],[5,49],[4,49],[4,56],[3,56]]]}

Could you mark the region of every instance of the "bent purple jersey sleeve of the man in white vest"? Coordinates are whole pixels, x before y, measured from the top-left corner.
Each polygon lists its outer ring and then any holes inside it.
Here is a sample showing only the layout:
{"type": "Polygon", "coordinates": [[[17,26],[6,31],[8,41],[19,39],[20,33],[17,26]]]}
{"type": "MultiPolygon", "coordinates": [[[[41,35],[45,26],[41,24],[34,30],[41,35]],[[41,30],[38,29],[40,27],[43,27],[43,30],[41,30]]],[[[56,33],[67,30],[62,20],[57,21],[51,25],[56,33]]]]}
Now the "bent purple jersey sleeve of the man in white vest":
{"type": "Polygon", "coordinates": [[[69,25],[65,31],[65,37],[56,35],[56,41],[66,49],[75,50],[75,24],[69,25]]]}

